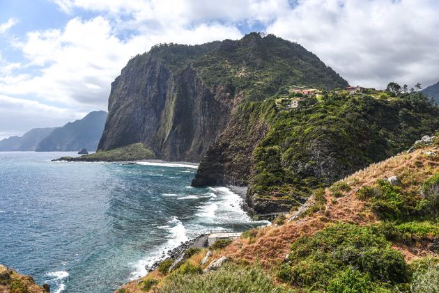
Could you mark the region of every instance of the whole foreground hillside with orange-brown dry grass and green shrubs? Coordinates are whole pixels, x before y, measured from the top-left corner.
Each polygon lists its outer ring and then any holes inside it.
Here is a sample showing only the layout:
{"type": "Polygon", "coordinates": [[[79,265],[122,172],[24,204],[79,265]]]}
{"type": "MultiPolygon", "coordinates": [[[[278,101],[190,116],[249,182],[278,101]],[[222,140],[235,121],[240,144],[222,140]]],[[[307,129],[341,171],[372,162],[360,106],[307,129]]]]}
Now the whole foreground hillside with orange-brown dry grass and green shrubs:
{"type": "Polygon", "coordinates": [[[305,208],[118,292],[436,292],[439,140],[318,189],[305,208]],[[387,178],[396,176],[392,184],[387,178]],[[229,262],[202,273],[221,256],[229,262]]]}

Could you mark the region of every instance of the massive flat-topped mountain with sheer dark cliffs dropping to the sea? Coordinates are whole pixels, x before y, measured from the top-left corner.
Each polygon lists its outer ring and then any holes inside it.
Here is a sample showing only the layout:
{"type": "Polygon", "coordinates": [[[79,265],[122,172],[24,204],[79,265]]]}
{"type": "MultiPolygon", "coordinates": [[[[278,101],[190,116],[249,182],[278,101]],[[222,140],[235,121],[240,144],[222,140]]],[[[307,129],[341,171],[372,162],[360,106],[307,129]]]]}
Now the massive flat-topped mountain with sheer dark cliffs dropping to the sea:
{"type": "Polygon", "coordinates": [[[111,84],[99,150],[144,143],[158,159],[200,161],[243,101],[284,86],[344,87],[317,56],[274,35],[204,45],[158,45],[111,84]]]}

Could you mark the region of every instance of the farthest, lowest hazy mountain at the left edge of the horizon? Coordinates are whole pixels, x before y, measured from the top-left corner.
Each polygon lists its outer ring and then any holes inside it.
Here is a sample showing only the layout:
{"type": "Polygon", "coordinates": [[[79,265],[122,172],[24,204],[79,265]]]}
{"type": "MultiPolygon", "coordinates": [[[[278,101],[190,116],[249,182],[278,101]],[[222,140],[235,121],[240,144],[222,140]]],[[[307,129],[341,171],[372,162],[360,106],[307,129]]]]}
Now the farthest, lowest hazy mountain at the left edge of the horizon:
{"type": "Polygon", "coordinates": [[[10,136],[0,141],[0,152],[8,151],[33,151],[40,141],[54,131],[56,127],[31,129],[23,136],[10,136]]]}

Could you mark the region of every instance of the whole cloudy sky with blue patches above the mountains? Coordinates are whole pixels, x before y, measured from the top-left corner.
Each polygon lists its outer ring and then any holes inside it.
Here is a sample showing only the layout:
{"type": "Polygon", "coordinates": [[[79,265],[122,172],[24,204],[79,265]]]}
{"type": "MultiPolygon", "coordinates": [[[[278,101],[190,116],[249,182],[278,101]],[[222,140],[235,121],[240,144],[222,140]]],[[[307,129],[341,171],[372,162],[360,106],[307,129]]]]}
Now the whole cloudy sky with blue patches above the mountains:
{"type": "Polygon", "coordinates": [[[162,42],[273,33],[349,84],[439,81],[437,0],[0,0],[0,139],[107,110],[128,60],[162,42]]]}

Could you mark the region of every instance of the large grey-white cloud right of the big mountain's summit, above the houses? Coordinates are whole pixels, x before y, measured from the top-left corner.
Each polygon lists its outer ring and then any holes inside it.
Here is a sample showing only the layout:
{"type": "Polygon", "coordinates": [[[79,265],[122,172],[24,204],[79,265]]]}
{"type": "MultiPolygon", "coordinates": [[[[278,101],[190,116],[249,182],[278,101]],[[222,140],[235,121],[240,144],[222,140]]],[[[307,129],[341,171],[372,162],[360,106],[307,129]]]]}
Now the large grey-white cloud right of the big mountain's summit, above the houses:
{"type": "Polygon", "coordinates": [[[353,84],[383,88],[439,79],[434,0],[307,0],[268,26],[299,42],[353,84]]]}

